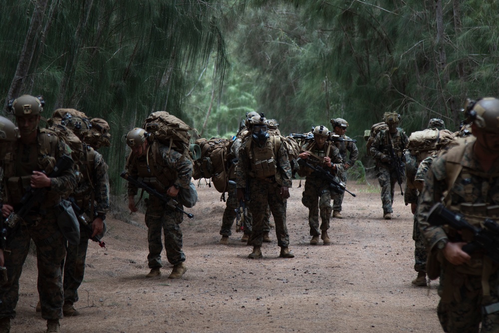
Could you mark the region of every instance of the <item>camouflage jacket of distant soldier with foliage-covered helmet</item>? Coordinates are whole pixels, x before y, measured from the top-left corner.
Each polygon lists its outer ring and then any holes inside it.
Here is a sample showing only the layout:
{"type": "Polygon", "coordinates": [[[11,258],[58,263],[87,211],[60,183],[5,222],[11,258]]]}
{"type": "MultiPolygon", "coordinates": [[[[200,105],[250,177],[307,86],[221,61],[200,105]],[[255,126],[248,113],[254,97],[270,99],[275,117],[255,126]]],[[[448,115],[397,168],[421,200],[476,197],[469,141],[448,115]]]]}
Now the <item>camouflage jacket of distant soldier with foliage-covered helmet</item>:
{"type": "MultiPolygon", "coordinates": [[[[388,156],[391,155],[389,149],[390,144],[388,142],[388,135],[390,135],[390,132],[388,130],[380,131],[376,135],[376,138],[374,139],[374,142],[371,145],[369,152],[371,153],[371,156],[376,160],[377,164],[383,165],[389,169],[393,169],[390,163],[384,163],[381,162],[380,160],[382,155],[388,155],[388,156]]],[[[407,145],[409,144],[409,138],[407,137],[407,135],[400,128],[397,128],[397,132],[390,135],[390,141],[394,148],[395,155],[398,156],[399,158],[402,158],[402,161],[404,161],[405,156],[403,154],[403,151],[407,148],[407,145]]]]}

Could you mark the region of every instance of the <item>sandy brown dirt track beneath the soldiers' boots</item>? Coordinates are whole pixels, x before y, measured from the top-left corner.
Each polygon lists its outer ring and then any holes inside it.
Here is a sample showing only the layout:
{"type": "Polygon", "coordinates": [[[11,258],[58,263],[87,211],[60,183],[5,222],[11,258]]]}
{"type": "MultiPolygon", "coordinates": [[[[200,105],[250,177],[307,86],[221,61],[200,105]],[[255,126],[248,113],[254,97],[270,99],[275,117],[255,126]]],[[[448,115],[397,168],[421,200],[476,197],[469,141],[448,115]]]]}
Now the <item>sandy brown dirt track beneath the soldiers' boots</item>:
{"type": "MultiPolygon", "coordinates": [[[[62,320],[65,333],[170,332],[442,332],[436,316],[437,282],[411,285],[415,278],[412,215],[396,192],[394,219],[382,219],[377,186],[348,184],[344,219],[332,219],[329,246],[309,244],[308,211],[302,188],[291,189],[287,226],[294,259],[278,258],[275,234],[263,259],[248,259],[251,247],[233,233],[220,245],[225,203],[202,182],[199,203],[185,219],[188,271],[181,280],[146,279],[144,216],[126,212],[108,220],[107,250],[89,245],[85,281],[75,307],[78,317],[62,320]]],[[[377,184],[377,181],[371,182],[377,184]]],[[[125,209],[124,209],[125,211],[125,209]]],[[[36,314],[36,261],[28,256],[20,281],[17,317],[11,333],[44,332],[36,314]]]]}

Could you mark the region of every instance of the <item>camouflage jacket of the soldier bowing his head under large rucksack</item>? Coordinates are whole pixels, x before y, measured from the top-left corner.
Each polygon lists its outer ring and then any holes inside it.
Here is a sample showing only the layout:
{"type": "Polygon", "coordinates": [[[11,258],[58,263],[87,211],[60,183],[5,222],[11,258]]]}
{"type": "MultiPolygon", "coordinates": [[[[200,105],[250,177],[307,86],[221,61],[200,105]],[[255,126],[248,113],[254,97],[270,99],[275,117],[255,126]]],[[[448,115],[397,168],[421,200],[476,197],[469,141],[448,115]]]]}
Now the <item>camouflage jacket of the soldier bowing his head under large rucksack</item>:
{"type": "MultiPolygon", "coordinates": [[[[151,145],[152,143],[150,143],[151,145]]],[[[130,165],[128,165],[128,173],[134,177],[158,177],[153,173],[139,174],[138,163],[155,163],[156,165],[163,165],[164,169],[161,171],[163,174],[167,174],[169,178],[172,179],[171,184],[162,184],[163,186],[177,185],[182,188],[188,188],[191,183],[193,166],[192,161],[189,158],[183,157],[179,152],[169,149],[167,146],[158,143],[158,156],[154,155],[154,149],[147,151],[148,156],[143,154],[140,157],[131,156],[128,158],[130,165]],[[156,159],[160,161],[154,162],[156,159]],[[149,161],[149,162],[148,162],[149,161]]],[[[153,169],[151,167],[151,169],[153,169]]],[[[159,177],[158,177],[159,178],[159,177]]],[[[135,196],[138,192],[137,187],[128,183],[128,195],[135,196]]]]}

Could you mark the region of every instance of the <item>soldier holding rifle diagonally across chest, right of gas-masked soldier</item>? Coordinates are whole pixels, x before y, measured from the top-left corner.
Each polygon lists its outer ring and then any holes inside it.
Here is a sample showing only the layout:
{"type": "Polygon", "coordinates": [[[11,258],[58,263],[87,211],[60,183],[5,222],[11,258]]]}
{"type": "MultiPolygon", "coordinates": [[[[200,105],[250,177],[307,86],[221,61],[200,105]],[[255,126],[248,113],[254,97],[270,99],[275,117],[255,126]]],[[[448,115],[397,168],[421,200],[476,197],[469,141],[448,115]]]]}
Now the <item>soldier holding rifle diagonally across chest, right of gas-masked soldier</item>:
{"type": "MultiPolygon", "coordinates": [[[[322,125],[317,126],[312,131],[313,141],[305,145],[304,152],[300,153],[299,158],[307,160],[314,167],[320,166],[331,174],[336,174],[343,170],[341,156],[338,148],[326,141],[329,136],[329,130],[322,125]]],[[[305,176],[305,188],[301,202],[308,208],[308,225],[310,226],[311,245],[317,245],[319,235],[324,245],[330,244],[331,240],[327,235],[329,229],[329,219],[331,217],[331,188],[329,182],[325,181],[319,175],[316,175],[310,168],[300,167],[298,171],[300,176],[305,176]],[[319,230],[319,209],[320,219],[322,221],[319,230]]]]}

